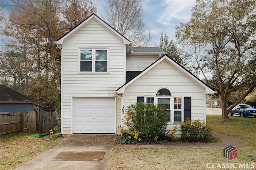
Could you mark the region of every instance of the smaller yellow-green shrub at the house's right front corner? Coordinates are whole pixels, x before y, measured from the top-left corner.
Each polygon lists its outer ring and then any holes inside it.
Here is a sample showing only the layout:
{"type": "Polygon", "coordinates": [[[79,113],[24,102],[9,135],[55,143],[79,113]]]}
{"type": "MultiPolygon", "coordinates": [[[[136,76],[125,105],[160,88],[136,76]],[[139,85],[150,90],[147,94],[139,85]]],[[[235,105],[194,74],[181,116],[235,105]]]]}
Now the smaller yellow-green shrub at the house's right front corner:
{"type": "Polygon", "coordinates": [[[184,141],[194,142],[208,142],[212,136],[212,129],[205,121],[201,122],[199,119],[191,121],[186,119],[181,125],[181,137],[184,141]]]}

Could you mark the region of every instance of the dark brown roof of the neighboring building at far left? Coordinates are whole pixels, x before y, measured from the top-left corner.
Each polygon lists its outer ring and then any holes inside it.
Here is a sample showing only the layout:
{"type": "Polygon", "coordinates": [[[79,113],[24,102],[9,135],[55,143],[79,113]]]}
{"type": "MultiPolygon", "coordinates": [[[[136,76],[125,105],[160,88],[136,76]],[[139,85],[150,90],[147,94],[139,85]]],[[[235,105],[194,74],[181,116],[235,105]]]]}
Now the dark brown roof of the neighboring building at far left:
{"type": "Polygon", "coordinates": [[[1,91],[1,94],[0,94],[1,103],[33,103],[25,95],[22,95],[5,85],[1,85],[0,91],[1,91]]]}

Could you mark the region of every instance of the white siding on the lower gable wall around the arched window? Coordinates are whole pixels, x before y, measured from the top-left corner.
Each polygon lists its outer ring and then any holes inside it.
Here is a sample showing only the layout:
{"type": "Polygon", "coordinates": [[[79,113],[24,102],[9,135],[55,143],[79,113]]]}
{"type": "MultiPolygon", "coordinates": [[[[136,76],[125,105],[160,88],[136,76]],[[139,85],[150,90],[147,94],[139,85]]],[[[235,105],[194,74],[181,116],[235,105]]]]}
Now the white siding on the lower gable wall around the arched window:
{"type": "MultiPolygon", "coordinates": [[[[124,108],[136,103],[137,96],[156,96],[158,89],[164,87],[170,89],[172,97],[192,97],[191,119],[205,119],[205,89],[165,60],[126,87],[124,108]]],[[[168,124],[169,129],[173,126],[168,124]]]]}

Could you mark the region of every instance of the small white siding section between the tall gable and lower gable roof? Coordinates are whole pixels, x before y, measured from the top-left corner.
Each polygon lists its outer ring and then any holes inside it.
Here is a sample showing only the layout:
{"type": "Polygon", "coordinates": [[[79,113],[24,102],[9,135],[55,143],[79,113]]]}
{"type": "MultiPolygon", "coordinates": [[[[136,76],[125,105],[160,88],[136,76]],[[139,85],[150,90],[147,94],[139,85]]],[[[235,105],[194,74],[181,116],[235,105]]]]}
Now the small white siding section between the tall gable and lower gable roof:
{"type": "Polygon", "coordinates": [[[159,56],[127,56],[126,71],[143,71],[157,59],[159,59],[159,56]]]}

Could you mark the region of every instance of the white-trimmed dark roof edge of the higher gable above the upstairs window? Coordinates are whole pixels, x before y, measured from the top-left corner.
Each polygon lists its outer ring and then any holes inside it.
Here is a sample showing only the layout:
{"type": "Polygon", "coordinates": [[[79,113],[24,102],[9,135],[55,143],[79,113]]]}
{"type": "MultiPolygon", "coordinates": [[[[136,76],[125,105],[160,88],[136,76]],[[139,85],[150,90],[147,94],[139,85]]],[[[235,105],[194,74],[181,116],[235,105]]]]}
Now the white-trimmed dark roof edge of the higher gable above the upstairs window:
{"type": "Polygon", "coordinates": [[[108,28],[110,31],[112,31],[116,36],[118,36],[119,38],[121,38],[125,44],[130,44],[130,40],[128,40],[127,38],[125,38],[122,34],[120,34],[118,31],[116,31],[112,26],[110,26],[108,23],[106,23],[104,20],[102,20],[100,17],[98,17],[96,14],[91,14],[90,16],[88,16],[85,20],[83,20],[80,24],[78,24],[76,27],[74,27],[72,30],[70,30],[68,33],[66,33],[64,36],[62,36],[61,38],[59,38],[55,43],[60,45],[64,42],[64,40],[68,37],[70,37],[72,34],[74,34],[75,32],[77,32],[80,28],[82,28],[83,26],[85,26],[88,22],[90,22],[90,20],[92,19],[96,19],[98,22],[100,22],[101,24],[103,24],[104,26],[106,26],[106,28],[108,28]]]}

